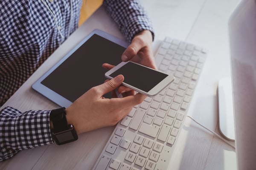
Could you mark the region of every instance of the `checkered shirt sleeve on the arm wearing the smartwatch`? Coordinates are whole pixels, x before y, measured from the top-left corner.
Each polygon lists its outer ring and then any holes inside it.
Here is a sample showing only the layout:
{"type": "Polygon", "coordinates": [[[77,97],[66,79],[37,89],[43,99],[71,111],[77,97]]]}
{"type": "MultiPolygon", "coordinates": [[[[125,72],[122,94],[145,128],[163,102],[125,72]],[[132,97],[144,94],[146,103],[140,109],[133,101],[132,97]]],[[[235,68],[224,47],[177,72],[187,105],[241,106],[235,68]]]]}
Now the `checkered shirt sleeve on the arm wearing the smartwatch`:
{"type": "Polygon", "coordinates": [[[6,107],[0,112],[0,161],[18,151],[53,143],[50,111],[26,111],[6,107]]]}

